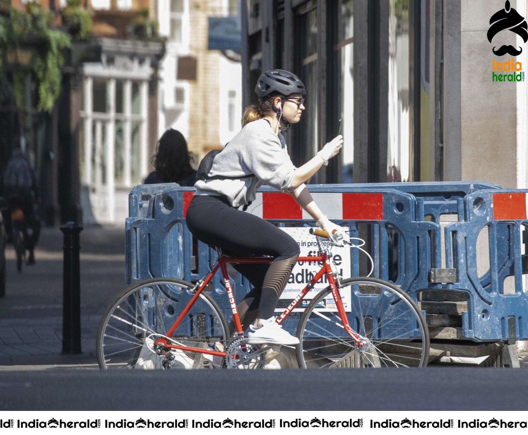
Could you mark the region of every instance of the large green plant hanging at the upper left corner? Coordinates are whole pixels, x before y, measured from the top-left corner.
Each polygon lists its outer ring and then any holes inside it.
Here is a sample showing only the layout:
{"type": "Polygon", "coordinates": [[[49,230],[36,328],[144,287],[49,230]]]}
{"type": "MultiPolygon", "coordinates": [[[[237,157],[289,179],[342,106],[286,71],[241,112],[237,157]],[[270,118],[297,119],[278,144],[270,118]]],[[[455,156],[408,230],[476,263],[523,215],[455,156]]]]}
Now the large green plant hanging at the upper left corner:
{"type": "Polygon", "coordinates": [[[18,108],[24,107],[24,77],[31,71],[39,94],[37,110],[51,113],[59,98],[64,65],[62,51],[71,47],[71,38],[53,29],[53,20],[54,14],[42,10],[36,2],[28,3],[25,11],[19,11],[11,5],[11,0],[0,0],[0,52],[4,53],[0,57],[0,76],[5,84],[10,81],[9,70],[13,70],[12,91],[18,108]],[[25,67],[17,66],[19,58],[26,54],[34,59],[28,60],[25,67]]]}

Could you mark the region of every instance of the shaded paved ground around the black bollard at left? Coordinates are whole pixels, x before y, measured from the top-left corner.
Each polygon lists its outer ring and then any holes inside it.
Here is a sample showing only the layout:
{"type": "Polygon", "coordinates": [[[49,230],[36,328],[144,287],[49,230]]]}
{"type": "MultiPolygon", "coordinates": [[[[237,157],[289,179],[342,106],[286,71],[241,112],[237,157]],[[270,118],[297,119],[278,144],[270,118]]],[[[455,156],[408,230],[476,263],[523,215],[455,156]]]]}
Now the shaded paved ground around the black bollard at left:
{"type": "Polygon", "coordinates": [[[81,350],[62,355],[62,233],[44,228],[36,264],[16,271],[7,246],[7,289],[0,299],[0,371],[96,369],[102,313],[125,284],[125,229],[81,232],[81,350]]]}

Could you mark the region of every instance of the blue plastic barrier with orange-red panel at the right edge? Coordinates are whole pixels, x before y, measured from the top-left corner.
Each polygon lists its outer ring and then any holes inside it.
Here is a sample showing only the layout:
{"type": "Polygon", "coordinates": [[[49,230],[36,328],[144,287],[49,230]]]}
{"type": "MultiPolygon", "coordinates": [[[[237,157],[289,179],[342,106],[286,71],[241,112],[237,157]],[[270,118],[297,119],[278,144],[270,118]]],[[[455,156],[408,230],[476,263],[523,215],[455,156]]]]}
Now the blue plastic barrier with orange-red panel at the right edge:
{"type": "Polygon", "coordinates": [[[457,269],[457,282],[448,289],[468,294],[468,309],[462,313],[463,335],[476,341],[505,340],[510,334],[508,318],[513,318],[516,339],[528,339],[528,293],[523,291],[528,239],[521,239],[521,230],[528,225],[526,191],[474,192],[464,199],[464,208],[464,221],[445,228],[446,240],[452,240],[446,245],[448,267],[457,269]],[[477,239],[485,227],[489,249],[478,252],[477,239]],[[489,256],[489,271],[478,276],[483,254],[489,256]],[[505,285],[509,276],[514,279],[511,294],[505,285]]]}

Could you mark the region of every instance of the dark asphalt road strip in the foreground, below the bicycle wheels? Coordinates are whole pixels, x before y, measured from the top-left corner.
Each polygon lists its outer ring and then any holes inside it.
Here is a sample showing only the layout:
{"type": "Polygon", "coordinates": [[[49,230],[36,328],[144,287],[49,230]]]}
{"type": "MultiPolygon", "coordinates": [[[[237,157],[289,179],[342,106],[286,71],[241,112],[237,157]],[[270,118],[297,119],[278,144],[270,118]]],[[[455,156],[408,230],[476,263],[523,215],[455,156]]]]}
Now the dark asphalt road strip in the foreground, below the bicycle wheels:
{"type": "Polygon", "coordinates": [[[469,367],[3,372],[0,410],[514,411],[527,387],[528,370],[469,367]]]}

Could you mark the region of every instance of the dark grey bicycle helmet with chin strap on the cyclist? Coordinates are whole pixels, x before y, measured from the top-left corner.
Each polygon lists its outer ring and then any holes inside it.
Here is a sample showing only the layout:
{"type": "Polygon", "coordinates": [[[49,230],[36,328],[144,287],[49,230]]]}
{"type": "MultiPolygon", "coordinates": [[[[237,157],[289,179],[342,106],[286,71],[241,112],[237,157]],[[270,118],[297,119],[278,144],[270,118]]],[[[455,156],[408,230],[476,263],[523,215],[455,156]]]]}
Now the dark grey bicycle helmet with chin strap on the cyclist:
{"type": "MultiPolygon", "coordinates": [[[[284,69],[270,69],[259,77],[255,92],[257,92],[260,101],[265,101],[266,97],[274,91],[279,92],[285,97],[291,94],[306,94],[303,82],[300,81],[295,74],[285,71],[284,69]]],[[[280,110],[277,110],[266,101],[266,104],[277,114],[279,125],[282,118],[282,105],[284,104],[285,99],[286,98],[282,98],[280,110]]],[[[286,118],[282,118],[282,122],[284,123],[284,127],[279,127],[281,131],[286,131],[291,127],[291,124],[286,118]]]]}

